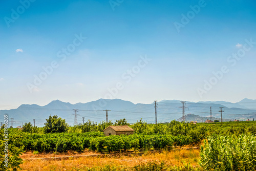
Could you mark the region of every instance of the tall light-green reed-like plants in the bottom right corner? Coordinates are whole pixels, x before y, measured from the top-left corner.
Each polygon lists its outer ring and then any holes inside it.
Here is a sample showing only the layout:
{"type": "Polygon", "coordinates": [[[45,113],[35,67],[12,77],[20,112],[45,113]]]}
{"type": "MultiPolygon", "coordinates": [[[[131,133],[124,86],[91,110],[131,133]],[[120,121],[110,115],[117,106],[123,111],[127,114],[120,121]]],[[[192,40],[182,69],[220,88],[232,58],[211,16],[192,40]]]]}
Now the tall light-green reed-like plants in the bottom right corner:
{"type": "Polygon", "coordinates": [[[210,136],[200,156],[206,170],[256,170],[256,136],[210,136]]]}

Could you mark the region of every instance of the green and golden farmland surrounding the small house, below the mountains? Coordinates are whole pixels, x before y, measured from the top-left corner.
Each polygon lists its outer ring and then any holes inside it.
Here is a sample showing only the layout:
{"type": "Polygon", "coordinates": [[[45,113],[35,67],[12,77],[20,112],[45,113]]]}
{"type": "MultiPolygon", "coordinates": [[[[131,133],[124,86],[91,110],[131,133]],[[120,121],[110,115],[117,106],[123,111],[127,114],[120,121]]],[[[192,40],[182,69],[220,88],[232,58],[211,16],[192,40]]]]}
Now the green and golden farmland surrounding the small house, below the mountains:
{"type": "Polygon", "coordinates": [[[108,125],[124,124],[125,119],[115,123],[88,121],[61,133],[46,133],[41,127],[9,129],[9,146],[23,154],[23,159],[104,154],[61,161],[24,160],[19,164],[24,170],[254,170],[256,166],[253,121],[147,124],[138,120],[130,125],[135,130],[133,135],[106,137],[102,133],[108,125]],[[185,149],[195,146],[200,149],[185,149]]]}

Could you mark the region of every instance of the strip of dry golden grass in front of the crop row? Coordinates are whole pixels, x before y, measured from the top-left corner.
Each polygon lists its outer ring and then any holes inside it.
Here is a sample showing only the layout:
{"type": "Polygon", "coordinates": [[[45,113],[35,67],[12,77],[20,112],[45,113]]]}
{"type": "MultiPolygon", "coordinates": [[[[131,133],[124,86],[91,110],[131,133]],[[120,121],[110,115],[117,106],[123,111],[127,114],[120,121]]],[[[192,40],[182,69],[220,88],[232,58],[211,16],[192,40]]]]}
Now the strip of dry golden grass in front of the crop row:
{"type": "Polygon", "coordinates": [[[77,170],[85,167],[102,167],[107,164],[111,166],[132,167],[150,161],[165,161],[167,164],[176,166],[190,163],[195,166],[198,165],[199,153],[199,149],[182,149],[181,151],[164,151],[162,153],[110,154],[103,157],[81,157],[68,160],[33,160],[24,161],[20,167],[23,170],[32,171],[77,170]]]}

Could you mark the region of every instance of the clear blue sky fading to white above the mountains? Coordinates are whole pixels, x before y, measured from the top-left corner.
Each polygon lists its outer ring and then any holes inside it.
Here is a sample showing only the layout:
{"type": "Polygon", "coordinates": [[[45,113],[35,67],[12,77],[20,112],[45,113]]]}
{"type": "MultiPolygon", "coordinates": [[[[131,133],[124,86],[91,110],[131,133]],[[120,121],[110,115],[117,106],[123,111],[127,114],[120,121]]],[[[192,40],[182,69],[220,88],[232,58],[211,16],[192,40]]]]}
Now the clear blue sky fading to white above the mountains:
{"type": "Polygon", "coordinates": [[[0,4],[2,106],[256,99],[255,1],[0,4]]]}

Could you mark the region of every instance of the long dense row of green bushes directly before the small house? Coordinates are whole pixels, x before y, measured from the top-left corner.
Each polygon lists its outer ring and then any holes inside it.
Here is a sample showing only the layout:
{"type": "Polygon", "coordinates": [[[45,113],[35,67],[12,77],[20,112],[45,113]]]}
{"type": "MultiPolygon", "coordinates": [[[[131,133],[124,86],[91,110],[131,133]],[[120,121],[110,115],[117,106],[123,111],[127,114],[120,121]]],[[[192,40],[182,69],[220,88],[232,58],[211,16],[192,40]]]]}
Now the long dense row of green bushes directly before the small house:
{"type": "Polygon", "coordinates": [[[103,133],[59,133],[59,134],[22,134],[16,146],[24,147],[25,151],[48,152],[82,152],[89,148],[98,152],[113,152],[127,149],[148,150],[190,144],[188,136],[172,135],[121,135],[104,136],[103,133]]]}

